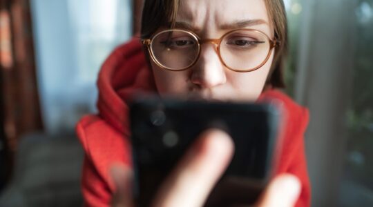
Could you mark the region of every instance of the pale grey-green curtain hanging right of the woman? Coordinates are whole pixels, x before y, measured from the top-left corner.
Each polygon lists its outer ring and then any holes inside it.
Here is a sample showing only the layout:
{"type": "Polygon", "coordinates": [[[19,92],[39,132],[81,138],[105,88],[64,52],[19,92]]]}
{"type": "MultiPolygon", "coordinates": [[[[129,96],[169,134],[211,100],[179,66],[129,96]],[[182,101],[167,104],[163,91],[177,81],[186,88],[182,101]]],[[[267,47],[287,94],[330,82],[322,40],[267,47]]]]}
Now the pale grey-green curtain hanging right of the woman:
{"type": "MultiPolygon", "coordinates": [[[[356,1],[303,1],[296,99],[307,106],[312,206],[338,205],[351,100],[356,1]]],[[[359,206],[359,205],[357,205],[359,206]]]]}

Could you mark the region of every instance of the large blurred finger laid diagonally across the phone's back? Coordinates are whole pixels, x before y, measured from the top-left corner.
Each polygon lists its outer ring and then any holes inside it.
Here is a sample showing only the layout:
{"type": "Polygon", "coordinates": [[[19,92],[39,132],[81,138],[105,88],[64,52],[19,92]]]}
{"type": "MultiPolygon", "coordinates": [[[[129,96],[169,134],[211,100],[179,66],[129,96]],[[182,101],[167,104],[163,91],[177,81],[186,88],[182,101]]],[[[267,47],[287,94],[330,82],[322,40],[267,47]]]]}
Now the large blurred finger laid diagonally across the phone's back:
{"type": "Polygon", "coordinates": [[[227,133],[203,132],[162,185],[155,206],[202,206],[232,155],[227,133]]]}

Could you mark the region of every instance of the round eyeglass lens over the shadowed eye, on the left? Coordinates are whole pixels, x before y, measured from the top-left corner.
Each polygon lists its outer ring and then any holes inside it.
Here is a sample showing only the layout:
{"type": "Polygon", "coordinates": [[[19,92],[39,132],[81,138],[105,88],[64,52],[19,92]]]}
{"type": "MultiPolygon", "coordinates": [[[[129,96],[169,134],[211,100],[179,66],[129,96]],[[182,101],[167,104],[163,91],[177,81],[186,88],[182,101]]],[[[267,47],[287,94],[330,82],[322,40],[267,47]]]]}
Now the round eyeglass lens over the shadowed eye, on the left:
{"type": "Polygon", "coordinates": [[[169,70],[184,70],[197,59],[200,46],[193,34],[182,30],[166,30],[153,37],[153,57],[157,63],[169,70]]]}

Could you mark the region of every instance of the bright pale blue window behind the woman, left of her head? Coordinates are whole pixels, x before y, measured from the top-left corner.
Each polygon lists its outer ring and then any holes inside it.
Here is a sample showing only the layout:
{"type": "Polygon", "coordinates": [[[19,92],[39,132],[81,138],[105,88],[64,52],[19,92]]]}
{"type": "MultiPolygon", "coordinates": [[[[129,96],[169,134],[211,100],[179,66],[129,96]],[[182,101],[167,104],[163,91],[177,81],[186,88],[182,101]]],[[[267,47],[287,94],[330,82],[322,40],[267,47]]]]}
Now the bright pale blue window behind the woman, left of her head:
{"type": "Polygon", "coordinates": [[[32,0],[39,94],[48,132],[95,112],[97,72],[131,37],[131,0],[32,0]]]}

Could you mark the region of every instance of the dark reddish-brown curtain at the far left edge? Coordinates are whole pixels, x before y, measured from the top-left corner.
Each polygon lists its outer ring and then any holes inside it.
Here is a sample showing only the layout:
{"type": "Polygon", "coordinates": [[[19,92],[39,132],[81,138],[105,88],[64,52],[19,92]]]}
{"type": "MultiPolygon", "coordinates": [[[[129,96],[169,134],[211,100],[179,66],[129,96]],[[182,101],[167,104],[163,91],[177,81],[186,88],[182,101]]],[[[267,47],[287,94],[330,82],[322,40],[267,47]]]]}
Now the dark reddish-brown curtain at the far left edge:
{"type": "Polygon", "coordinates": [[[0,0],[0,150],[6,157],[1,173],[6,175],[19,137],[43,128],[31,21],[27,0],[0,0]]]}

